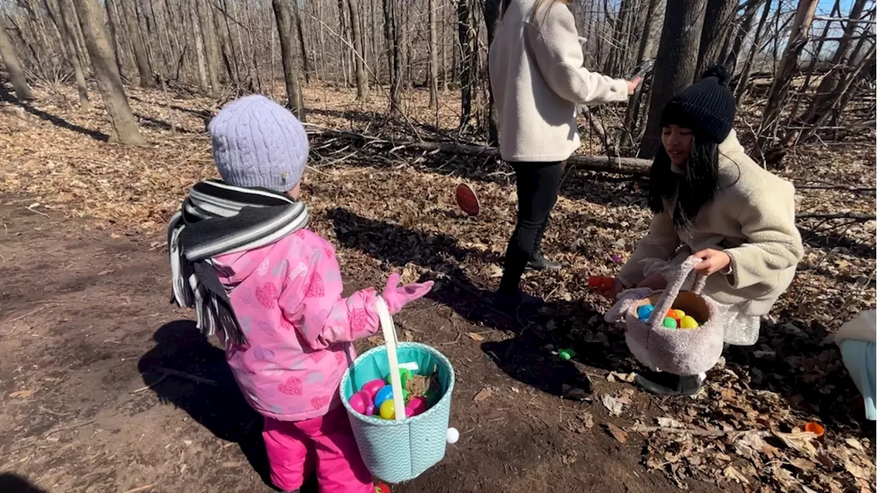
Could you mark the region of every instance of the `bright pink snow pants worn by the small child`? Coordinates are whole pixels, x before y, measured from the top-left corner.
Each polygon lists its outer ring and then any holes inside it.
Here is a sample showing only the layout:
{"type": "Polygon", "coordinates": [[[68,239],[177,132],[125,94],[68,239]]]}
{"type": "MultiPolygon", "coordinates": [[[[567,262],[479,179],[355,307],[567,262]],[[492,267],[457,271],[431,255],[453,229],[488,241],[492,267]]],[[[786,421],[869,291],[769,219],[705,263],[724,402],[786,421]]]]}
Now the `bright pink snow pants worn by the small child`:
{"type": "Polygon", "coordinates": [[[344,407],[305,421],[266,417],[262,437],[277,488],[300,488],[316,465],[320,493],[374,493],[344,407]]]}

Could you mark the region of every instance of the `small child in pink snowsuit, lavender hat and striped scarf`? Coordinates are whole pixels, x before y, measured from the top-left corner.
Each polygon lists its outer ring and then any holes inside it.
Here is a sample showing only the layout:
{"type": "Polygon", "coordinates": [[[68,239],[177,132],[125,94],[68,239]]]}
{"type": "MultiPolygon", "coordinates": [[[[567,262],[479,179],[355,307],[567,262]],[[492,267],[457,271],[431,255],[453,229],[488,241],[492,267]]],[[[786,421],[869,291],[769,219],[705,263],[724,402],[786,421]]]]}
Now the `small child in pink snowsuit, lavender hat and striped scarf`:
{"type": "MultiPolygon", "coordinates": [[[[191,290],[199,325],[224,340],[241,391],[265,417],[277,487],[296,490],[316,468],[321,492],[373,493],[339,382],[353,341],[379,328],[377,294],[342,297],[332,244],[305,229],[307,134],[279,104],[246,96],[219,111],[210,137],[223,181],[196,184],[178,214],[180,269],[188,261],[200,283],[191,290]]],[[[398,282],[390,275],[381,293],[393,313],[432,285],[398,282]]]]}

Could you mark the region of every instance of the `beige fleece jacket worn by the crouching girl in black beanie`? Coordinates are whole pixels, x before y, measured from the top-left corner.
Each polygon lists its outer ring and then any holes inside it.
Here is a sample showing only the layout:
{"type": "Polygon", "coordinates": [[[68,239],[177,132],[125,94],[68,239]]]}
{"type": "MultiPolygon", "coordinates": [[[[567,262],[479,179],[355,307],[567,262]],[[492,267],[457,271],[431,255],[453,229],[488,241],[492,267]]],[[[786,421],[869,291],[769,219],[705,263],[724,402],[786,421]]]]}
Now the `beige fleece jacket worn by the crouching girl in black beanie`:
{"type": "Polygon", "coordinates": [[[653,259],[679,264],[706,248],[724,250],[731,272],[710,275],[704,294],[750,316],[766,315],[788,289],[803,256],[795,226],[794,186],[759,167],[731,132],[719,145],[719,190],[693,225],[673,225],[675,199],[655,214],[618,278],[631,287],[643,281],[653,259]]]}

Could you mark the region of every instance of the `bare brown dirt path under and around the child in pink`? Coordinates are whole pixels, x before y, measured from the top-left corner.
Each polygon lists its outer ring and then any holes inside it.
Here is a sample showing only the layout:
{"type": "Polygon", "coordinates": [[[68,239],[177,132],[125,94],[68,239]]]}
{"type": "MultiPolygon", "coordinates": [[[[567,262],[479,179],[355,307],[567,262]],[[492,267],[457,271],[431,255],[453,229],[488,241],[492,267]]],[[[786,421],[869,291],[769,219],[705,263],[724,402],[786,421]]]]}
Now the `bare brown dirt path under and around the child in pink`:
{"type": "MultiPolygon", "coordinates": [[[[156,245],[46,218],[28,201],[0,204],[0,490],[270,491],[259,417],[223,353],[168,304],[156,245]]],[[[358,273],[349,284],[379,276],[358,273]]],[[[615,418],[602,406],[552,395],[556,378],[575,373],[571,364],[540,361],[505,332],[472,325],[440,303],[453,296],[443,290],[400,321],[453,361],[452,425],[462,437],[446,461],[394,491],[676,490],[638,464],[638,437],[623,445],[604,431],[615,418]],[[491,395],[475,403],[485,387],[491,395]]]]}

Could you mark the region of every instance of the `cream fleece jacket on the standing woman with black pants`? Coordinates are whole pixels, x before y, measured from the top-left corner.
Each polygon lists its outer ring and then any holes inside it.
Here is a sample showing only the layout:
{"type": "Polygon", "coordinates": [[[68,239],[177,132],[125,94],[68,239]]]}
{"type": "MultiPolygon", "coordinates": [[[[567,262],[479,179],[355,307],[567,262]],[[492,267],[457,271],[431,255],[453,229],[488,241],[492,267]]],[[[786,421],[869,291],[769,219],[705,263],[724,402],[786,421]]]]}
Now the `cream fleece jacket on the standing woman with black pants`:
{"type": "Polygon", "coordinates": [[[576,104],[626,101],[627,83],[582,68],[573,13],[512,0],[490,44],[490,86],[504,161],[564,161],[579,148],[576,104]]]}

